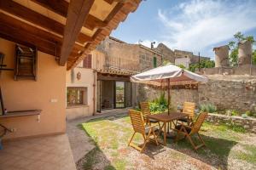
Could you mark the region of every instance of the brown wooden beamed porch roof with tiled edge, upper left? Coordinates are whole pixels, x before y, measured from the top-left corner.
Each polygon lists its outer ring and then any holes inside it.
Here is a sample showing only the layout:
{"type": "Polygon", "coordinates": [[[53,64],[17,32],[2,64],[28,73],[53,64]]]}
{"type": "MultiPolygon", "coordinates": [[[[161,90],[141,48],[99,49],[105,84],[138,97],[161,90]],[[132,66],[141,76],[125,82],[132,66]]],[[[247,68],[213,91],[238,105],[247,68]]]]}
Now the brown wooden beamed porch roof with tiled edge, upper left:
{"type": "Polygon", "coordinates": [[[0,0],[0,37],[55,56],[84,59],[141,0],[0,0]]]}

